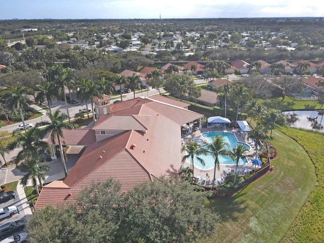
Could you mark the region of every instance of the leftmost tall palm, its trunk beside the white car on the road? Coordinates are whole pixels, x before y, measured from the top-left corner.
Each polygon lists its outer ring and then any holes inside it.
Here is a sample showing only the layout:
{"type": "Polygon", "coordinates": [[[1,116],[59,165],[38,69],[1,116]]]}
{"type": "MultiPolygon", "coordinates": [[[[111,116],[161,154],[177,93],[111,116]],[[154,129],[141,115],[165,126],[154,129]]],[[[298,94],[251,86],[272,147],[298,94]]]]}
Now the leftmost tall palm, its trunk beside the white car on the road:
{"type": "Polygon", "coordinates": [[[17,87],[9,87],[8,92],[3,96],[3,100],[5,100],[8,108],[19,110],[25,132],[27,132],[27,130],[22,110],[27,104],[31,104],[31,101],[27,97],[28,93],[29,92],[26,87],[19,85],[17,87]]]}

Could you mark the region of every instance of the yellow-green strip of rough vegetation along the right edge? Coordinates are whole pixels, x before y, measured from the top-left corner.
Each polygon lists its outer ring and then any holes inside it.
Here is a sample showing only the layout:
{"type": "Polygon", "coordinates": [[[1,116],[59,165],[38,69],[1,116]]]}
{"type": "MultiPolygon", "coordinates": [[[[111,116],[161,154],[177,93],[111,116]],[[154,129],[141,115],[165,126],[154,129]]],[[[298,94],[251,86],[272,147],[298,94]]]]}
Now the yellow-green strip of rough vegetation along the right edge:
{"type": "Polygon", "coordinates": [[[324,134],[280,128],[297,141],[315,166],[317,184],[282,242],[324,242],[324,134]]]}

